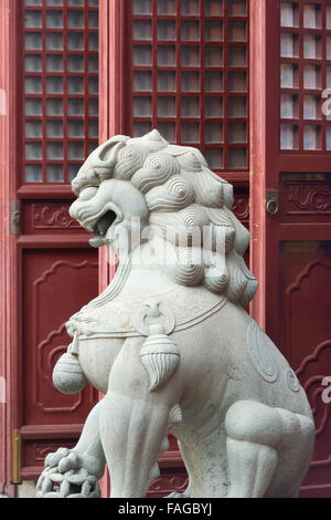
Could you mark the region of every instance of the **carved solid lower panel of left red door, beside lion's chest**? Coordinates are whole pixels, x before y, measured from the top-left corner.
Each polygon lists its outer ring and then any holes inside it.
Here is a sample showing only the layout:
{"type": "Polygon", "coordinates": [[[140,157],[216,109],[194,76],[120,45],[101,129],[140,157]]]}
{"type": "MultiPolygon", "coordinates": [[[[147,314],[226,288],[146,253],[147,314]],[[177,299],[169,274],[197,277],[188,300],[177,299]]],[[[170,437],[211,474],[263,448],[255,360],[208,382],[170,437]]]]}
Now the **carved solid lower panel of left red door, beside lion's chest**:
{"type": "MultiPolygon", "coordinates": [[[[73,237],[73,233],[70,235],[73,237]]],[[[75,395],[54,388],[52,372],[71,339],[68,316],[97,293],[94,251],[53,247],[22,250],[22,478],[40,472],[47,451],[72,445],[97,399],[87,385],[75,395]],[[42,455],[42,456],[41,456],[42,455]]]]}

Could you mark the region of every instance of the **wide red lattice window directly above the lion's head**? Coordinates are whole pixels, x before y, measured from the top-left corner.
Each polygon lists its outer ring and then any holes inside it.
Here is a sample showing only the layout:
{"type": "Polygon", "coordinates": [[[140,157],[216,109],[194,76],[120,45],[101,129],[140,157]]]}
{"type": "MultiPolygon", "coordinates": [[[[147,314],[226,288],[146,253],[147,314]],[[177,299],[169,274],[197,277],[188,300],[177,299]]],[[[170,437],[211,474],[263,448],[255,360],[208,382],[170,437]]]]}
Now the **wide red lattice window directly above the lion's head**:
{"type": "Polygon", "coordinates": [[[132,0],[131,132],[248,168],[248,0],[132,0]]]}

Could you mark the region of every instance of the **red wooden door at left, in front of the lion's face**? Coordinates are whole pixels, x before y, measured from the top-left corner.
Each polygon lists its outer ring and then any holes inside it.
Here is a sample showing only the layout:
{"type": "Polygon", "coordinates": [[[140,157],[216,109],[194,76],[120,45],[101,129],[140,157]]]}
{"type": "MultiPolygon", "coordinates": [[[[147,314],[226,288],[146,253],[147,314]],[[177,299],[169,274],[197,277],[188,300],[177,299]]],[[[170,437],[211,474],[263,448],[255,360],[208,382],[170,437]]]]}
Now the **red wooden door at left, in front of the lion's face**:
{"type": "Polygon", "coordinates": [[[70,181],[98,143],[98,2],[6,0],[1,29],[0,480],[17,483],[35,479],[49,451],[73,446],[97,401],[89,386],[60,394],[52,370],[71,341],[65,322],[98,292],[97,252],[68,216],[70,181]]]}

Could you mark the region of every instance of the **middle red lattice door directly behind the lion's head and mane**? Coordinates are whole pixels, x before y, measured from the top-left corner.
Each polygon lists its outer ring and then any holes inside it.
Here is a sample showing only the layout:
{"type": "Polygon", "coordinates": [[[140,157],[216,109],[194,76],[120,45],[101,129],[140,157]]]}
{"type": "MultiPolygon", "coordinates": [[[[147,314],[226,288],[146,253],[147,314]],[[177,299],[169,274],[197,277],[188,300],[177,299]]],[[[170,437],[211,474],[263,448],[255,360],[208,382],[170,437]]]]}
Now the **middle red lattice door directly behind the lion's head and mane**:
{"type": "MultiPolygon", "coordinates": [[[[100,3],[100,141],[157,127],[201,149],[235,186],[248,226],[248,0],[105,0],[100,3]]],[[[102,283],[111,272],[107,254],[102,283]]],[[[150,497],[184,491],[177,441],[160,459],[150,497]]],[[[108,489],[107,489],[108,488],[108,489]]],[[[104,482],[104,493],[109,481],[104,482]]]]}

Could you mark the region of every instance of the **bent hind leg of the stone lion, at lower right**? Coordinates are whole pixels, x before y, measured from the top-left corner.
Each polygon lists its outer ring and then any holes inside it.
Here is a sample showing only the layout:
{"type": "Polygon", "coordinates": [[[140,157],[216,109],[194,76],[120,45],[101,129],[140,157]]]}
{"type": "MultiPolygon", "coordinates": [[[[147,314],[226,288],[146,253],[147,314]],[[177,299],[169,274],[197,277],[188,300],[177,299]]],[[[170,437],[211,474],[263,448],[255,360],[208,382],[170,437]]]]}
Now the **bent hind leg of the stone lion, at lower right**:
{"type": "Polygon", "coordinates": [[[311,419],[241,401],[227,410],[225,428],[227,498],[295,496],[307,470],[305,449],[311,446],[311,419]]]}

